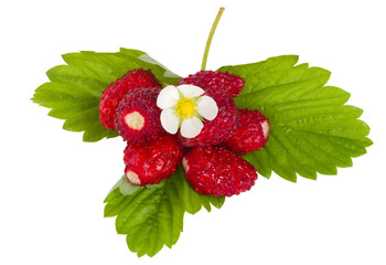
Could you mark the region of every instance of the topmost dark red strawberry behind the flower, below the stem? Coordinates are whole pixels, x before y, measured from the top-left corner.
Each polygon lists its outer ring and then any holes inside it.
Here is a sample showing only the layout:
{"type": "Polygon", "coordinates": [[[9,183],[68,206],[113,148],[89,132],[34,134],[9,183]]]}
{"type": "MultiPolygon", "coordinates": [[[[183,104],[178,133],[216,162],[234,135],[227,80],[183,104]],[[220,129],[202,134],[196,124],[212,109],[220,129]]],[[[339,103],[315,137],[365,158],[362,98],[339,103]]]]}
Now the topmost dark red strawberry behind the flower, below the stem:
{"type": "Polygon", "coordinates": [[[235,97],[244,88],[244,83],[242,77],[226,72],[201,71],[183,78],[176,85],[196,85],[210,94],[222,93],[235,97]]]}

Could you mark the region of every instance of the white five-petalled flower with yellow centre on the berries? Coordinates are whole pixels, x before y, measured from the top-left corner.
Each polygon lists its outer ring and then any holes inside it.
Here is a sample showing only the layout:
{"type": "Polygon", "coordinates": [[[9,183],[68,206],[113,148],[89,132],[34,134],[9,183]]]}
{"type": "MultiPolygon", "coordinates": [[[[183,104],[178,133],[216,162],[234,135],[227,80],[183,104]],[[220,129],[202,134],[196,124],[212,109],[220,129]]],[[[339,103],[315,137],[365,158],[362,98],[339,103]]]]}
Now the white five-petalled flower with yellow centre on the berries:
{"type": "Polygon", "coordinates": [[[202,128],[203,118],[213,120],[218,113],[216,102],[195,85],[167,86],[157,98],[157,106],[162,109],[161,125],[169,134],[185,138],[196,137],[202,128]]]}

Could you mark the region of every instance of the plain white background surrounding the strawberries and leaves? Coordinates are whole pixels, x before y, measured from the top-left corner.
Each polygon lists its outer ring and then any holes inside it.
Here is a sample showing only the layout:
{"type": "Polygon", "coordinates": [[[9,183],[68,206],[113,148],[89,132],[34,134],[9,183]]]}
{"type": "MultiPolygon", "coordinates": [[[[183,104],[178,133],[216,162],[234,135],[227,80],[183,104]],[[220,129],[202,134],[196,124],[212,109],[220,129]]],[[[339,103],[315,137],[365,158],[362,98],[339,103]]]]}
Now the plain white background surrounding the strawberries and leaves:
{"type": "Polygon", "coordinates": [[[384,0],[1,1],[0,264],[386,264],[384,0]],[[207,68],[299,54],[364,109],[375,142],[318,181],[259,178],[221,211],[186,215],[172,250],[138,258],[104,219],[124,142],[82,141],[32,104],[61,54],[139,49],[195,73],[226,10],[207,68]]]}

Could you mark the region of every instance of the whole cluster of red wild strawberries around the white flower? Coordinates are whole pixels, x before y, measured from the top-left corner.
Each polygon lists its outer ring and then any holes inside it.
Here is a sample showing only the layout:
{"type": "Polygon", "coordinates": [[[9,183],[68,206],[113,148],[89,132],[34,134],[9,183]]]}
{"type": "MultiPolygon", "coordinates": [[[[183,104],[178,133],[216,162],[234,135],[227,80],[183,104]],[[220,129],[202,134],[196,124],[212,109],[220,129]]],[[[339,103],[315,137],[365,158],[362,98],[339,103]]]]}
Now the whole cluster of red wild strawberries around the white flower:
{"type": "Polygon", "coordinates": [[[184,84],[201,87],[218,107],[217,116],[204,120],[194,138],[163,129],[157,106],[162,87],[150,71],[130,71],[104,91],[99,119],[127,141],[127,179],[137,186],[157,184],[182,163],[186,180],[202,194],[230,197],[249,190],[257,173],[242,155],[265,147],[269,124],[258,110],[238,109],[234,103],[244,80],[229,73],[201,71],[176,86],[184,84]]]}

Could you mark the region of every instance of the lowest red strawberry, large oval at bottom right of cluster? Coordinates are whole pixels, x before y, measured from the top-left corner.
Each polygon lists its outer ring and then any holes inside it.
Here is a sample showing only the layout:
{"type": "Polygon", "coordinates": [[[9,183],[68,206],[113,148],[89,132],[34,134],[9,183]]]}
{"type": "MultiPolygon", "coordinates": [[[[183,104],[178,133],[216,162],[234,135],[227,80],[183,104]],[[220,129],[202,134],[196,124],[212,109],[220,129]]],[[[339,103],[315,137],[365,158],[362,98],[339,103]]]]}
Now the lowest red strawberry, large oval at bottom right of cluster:
{"type": "Polygon", "coordinates": [[[232,197],[249,190],[256,169],[242,157],[221,147],[200,147],[182,159],[186,180],[204,195],[232,197]]]}

